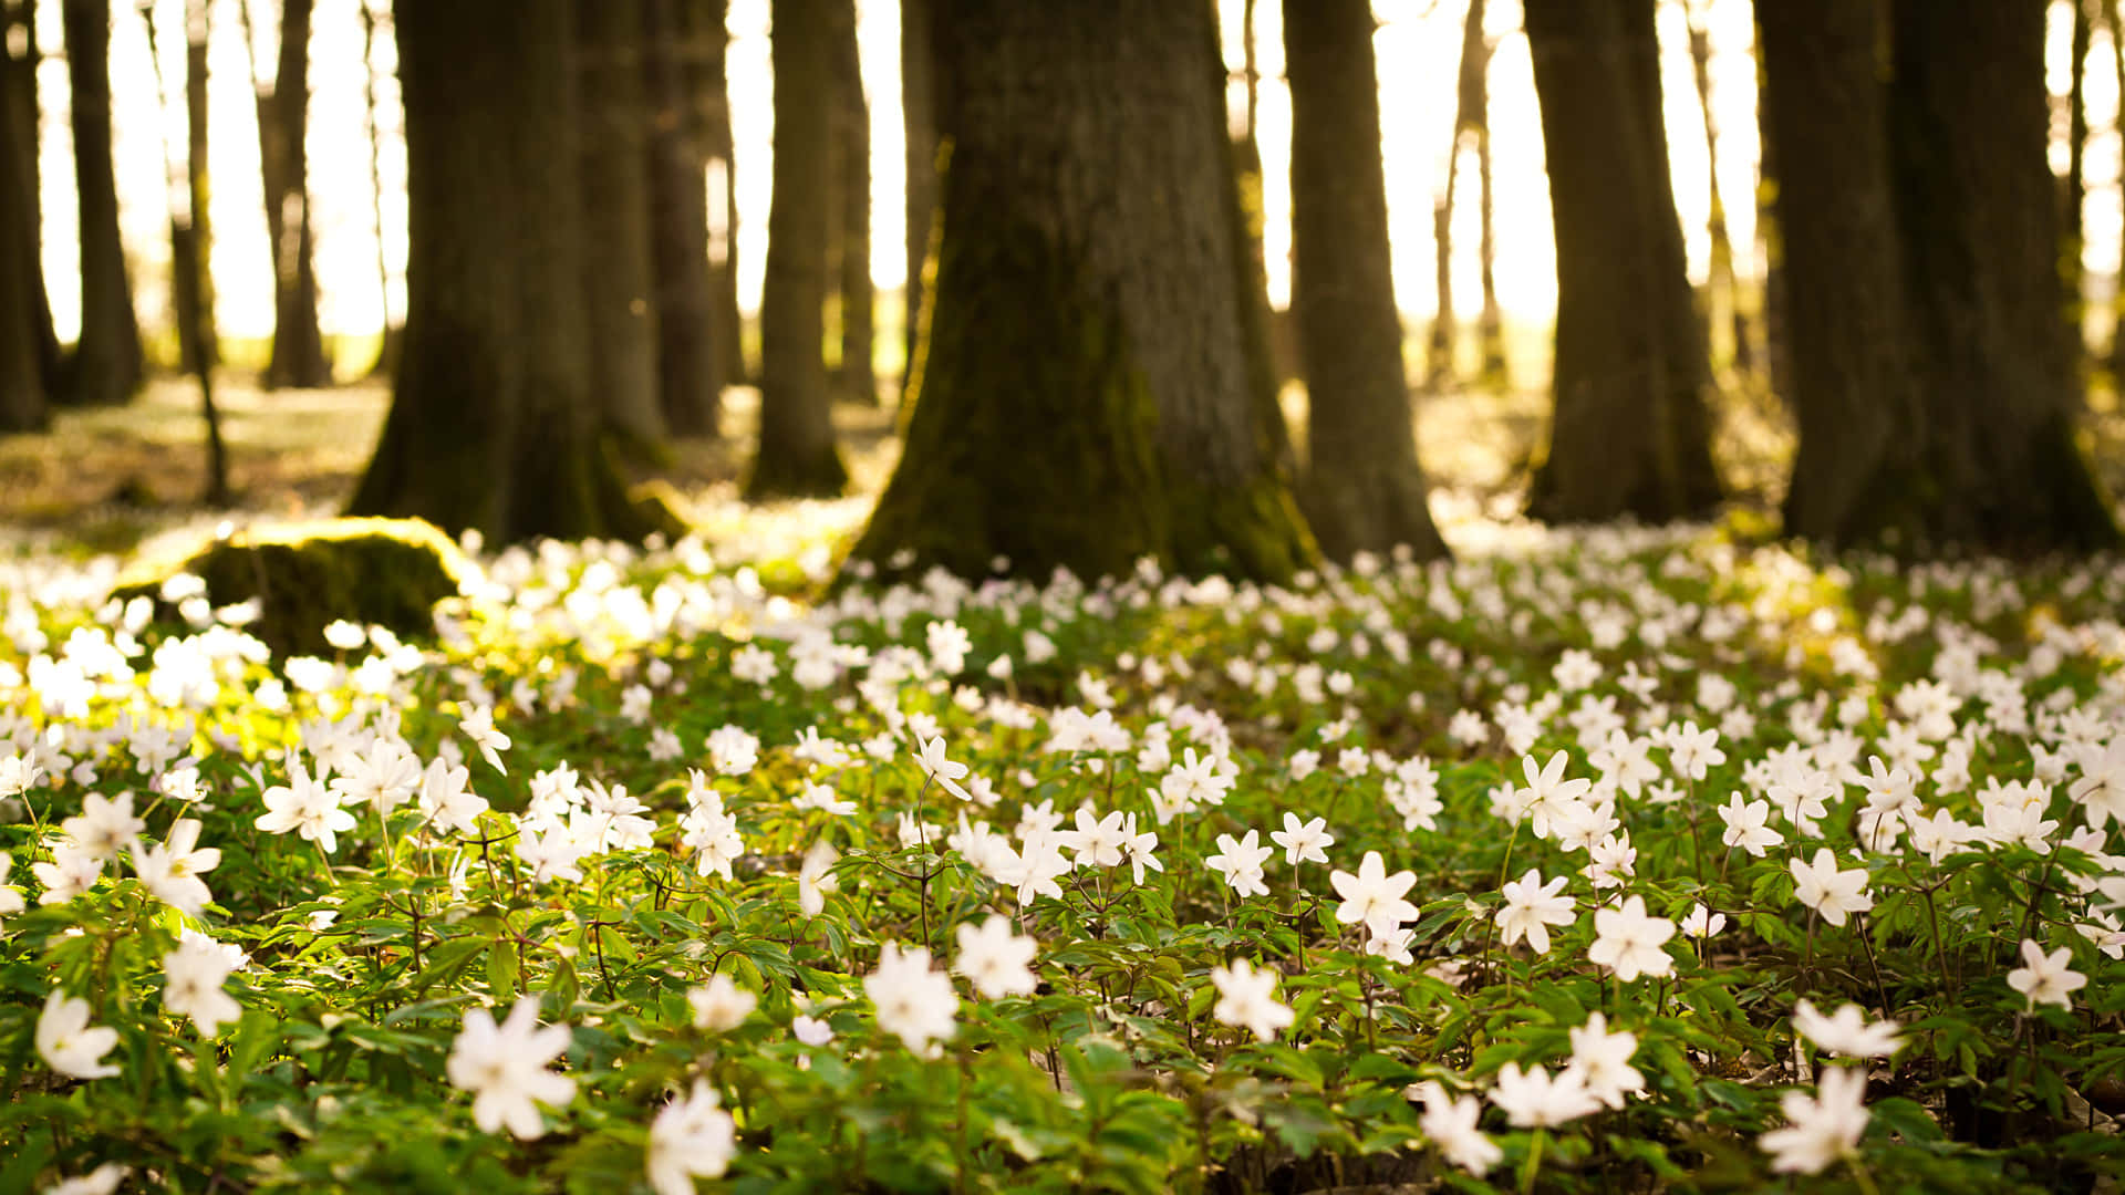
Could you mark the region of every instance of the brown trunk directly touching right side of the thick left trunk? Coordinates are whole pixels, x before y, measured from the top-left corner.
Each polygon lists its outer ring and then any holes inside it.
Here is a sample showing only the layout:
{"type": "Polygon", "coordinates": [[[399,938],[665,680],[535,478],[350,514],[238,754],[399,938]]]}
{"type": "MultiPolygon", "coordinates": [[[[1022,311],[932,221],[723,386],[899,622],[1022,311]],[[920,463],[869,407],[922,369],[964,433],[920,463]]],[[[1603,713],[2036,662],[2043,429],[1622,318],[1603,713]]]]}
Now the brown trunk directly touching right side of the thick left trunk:
{"type": "Polygon", "coordinates": [[[635,459],[654,459],[667,436],[657,391],[642,4],[578,2],[576,38],[591,389],[604,395],[614,440],[635,459]]]}

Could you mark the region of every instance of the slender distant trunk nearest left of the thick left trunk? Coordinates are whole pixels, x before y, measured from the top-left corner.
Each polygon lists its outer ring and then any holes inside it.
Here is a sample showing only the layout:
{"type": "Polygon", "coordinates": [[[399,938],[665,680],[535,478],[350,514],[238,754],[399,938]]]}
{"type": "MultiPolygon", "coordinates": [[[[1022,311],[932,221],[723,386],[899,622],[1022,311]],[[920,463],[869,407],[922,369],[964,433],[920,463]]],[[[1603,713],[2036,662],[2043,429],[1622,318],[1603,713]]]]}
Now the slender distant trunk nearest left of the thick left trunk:
{"type": "MultiPolygon", "coordinates": [[[[280,6],[280,53],[272,83],[257,79],[259,174],[272,245],[274,327],[266,387],[332,385],[325,334],[317,323],[317,259],[310,232],[310,4],[280,6]]],[[[251,4],[244,4],[251,40],[251,4]]]]}

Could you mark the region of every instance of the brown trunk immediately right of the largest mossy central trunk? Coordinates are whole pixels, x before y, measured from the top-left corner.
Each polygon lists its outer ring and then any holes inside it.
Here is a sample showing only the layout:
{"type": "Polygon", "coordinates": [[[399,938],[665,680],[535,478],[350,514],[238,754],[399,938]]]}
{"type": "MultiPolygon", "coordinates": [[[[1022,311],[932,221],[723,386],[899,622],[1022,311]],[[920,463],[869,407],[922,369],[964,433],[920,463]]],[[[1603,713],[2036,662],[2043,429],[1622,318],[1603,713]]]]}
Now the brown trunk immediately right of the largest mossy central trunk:
{"type": "Polygon", "coordinates": [[[1307,376],[1300,498],[1322,551],[1445,555],[1426,508],[1388,257],[1368,0],[1286,0],[1292,315],[1307,376]]]}

